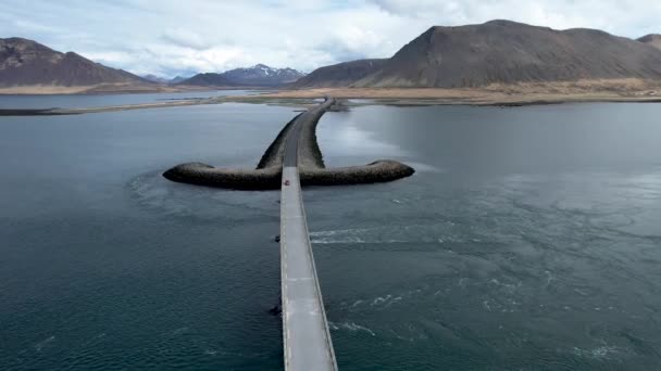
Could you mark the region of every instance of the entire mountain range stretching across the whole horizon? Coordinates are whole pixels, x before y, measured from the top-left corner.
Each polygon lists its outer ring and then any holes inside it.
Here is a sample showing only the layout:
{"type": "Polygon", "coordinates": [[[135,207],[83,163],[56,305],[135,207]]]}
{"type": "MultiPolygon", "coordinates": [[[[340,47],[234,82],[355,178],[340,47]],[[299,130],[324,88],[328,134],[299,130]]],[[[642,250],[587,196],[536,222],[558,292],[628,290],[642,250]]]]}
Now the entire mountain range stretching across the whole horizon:
{"type": "Polygon", "coordinates": [[[661,35],[637,40],[601,30],[556,30],[510,21],[435,26],[389,59],[324,66],[304,75],[258,64],[190,78],[139,77],[36,41],[0,39],[0,93],[173,91],[222,87],[471,88],[517,82],[661,81],[661,35]],[[75,89],[74,89],[75,88],[75,89]],[[32,90],[30,90],[32,89],[32,90]],[[15,89],[14,89],[15,90],[15,89]]]}

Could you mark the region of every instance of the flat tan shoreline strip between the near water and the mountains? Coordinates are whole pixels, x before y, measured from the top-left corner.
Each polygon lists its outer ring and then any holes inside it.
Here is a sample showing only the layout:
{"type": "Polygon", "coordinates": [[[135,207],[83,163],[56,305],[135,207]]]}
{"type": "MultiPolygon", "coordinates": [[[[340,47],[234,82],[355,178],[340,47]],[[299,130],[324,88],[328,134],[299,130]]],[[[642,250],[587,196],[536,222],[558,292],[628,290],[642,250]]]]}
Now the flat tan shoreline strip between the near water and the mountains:
{"type": "MultiPolygon", "coordinates": [[[[365,105],[431,106],[466,105],[522,107],[571,103],[661,103],[661,95],[640,92],[568,92],[568,93],[512,93],[499,90],[476,89],[305,89],[279,90],[254,95],[219,95],[186,100],[159,101],[153,103],[110,105],[83,108],[0,108],[0,116],[55,116],[86,113],[117,112],[129,110],[164,108],[188,105],[248,103],[307,108],[315,104],[319,97],[333,95],[341,106],[351,108],[365,105]]],[[[2,95],[0,95],[2,97],[2,95]]]]}

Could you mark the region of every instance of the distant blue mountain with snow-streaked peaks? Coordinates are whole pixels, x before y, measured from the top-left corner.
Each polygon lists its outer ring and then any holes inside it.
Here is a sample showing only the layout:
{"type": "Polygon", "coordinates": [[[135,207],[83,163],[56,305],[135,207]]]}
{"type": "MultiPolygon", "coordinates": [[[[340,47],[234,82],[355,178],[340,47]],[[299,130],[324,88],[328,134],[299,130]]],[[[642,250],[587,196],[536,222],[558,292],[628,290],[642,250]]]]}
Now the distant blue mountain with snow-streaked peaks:
{"type": "Polygon", "coordinates": [[[179,85],[216,86],[216,87],[273,87],[291,82],[304,76],[292,68],[272,68],[258,64],[249,68],[236,68],[222,74],[198,74],[179,85]]]}

